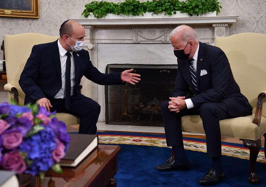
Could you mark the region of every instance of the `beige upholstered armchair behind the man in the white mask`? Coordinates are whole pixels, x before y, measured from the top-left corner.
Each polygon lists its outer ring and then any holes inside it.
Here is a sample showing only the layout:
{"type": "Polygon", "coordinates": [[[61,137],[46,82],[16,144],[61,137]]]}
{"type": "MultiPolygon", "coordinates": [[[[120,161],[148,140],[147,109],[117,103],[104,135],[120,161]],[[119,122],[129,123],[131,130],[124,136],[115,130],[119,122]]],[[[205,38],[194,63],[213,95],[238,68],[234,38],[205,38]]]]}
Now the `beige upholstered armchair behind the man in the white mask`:
{"type": "MultiPolygon", "coordinates": [[[[7,84],[4,89],[8,91],[8,98],[14,99],[20,106],[24,105],[25,94],[21,90],[18,80],[31,54],[33,45],[48,43],[57,40],[58,37],[39,33],[24,33],[16,35],[4,35],[7,84]]],[[[79,124],[79,117],[68,113],[57,113],[58,120],[66,125],[79,124]]]]}

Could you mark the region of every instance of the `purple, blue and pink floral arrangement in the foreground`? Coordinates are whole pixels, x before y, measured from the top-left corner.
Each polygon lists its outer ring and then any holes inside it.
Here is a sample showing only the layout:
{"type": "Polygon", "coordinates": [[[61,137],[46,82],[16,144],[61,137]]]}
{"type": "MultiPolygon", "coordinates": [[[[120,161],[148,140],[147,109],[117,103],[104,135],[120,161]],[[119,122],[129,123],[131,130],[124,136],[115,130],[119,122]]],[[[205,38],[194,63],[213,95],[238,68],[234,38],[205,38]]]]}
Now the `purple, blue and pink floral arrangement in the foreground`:
{"type": "Polygon", "coordinates": [[[0,169],[39,175],[58,164],[70,142],[64,122],[36,103],[17,106],[0,104],[0,169]]]}

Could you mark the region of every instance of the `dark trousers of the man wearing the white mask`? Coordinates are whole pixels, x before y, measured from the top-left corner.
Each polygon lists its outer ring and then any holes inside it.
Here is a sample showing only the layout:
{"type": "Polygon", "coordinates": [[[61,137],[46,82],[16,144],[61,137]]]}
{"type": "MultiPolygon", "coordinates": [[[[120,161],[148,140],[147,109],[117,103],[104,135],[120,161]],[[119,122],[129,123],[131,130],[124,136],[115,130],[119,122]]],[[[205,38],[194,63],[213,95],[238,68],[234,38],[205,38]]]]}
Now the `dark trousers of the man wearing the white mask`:
{"type": "Polygon", "coordinates": [[[65,108],[65,99],[49,99],[53,108],[51,111],[70,113],[80,117],[79,134],[95,134],[96,123],[100,115],[101,106],[91,98],[77,93],[71,96],[71,109],[65,108]]]}

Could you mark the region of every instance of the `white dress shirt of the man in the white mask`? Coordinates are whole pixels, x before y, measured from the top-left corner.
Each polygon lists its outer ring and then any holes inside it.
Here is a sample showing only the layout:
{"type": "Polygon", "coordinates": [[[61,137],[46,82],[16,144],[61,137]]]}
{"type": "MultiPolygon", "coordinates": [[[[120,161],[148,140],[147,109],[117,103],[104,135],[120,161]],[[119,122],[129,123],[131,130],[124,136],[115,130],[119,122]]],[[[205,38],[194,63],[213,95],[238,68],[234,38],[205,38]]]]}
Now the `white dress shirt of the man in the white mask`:
{"type": "MultiPolygon", "coordinates": [[[[58,48],[59,48],[59,56],[60,56],[60,62],[61,62],[62,88],[54,96],[54,99],[63,99],[63,98],[65,98],[65,67],[66,67],[66,59],[67,59],[67,56],[65,54],[66,54],[67,50],[65,50],[62,47],[59,40],[57,41],[57,44],[58,44],[58,48]]],[[[71,68],[70,68],[71,92],[70,92],[70,94],[73,95],[74,86],[75,86],[75,62],[74,62],[74,58],[73,58],[73,52],[70,51],[70,54],[71,54],[71,68]]]]}

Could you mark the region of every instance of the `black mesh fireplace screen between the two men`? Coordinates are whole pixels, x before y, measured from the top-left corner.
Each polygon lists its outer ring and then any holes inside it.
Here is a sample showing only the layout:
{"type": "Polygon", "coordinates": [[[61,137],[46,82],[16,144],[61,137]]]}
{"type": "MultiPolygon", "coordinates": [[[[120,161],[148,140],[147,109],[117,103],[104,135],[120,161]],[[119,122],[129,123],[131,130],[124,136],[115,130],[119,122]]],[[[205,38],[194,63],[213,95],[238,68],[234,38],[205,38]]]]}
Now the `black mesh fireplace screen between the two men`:
{"type": "Polygon", "coordinates": [[[106,124],[163,126],[160,106],[175,88],[177,65],[108,64],[105,73],[131,68],[139,83],[105,86],[106,124]]]}

